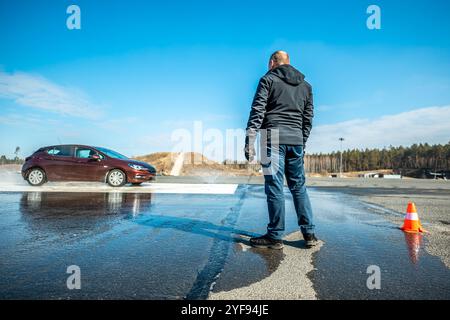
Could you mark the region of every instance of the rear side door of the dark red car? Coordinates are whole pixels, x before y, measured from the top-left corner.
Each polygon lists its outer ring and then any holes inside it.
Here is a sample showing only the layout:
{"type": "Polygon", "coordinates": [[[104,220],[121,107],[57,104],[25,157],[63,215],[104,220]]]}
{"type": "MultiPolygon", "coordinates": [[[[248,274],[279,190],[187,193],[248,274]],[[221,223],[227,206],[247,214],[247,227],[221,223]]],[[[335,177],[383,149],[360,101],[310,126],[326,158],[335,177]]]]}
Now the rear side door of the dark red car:
{"type": "Polygon", "coordinates": [[[54,146],[44,153],[43,167],[50,181],[72,180],[74,165],[72,146],[54,146]]]}

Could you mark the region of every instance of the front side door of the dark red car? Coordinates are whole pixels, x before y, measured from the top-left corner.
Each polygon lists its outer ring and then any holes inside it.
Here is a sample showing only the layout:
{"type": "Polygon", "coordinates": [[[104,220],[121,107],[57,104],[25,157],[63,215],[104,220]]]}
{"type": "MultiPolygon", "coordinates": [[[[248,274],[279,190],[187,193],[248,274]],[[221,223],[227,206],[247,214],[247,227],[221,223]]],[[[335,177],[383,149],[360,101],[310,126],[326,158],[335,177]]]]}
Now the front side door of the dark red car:
{"type": "Polygon", "coordinates": [[[75,164],[73,167],[74,179],[78,181],[102,181],[103,163],[102,155],[88,147],[75,147],[75,164]],[[100,159],[94,159],[98,155],[100,159]]]}

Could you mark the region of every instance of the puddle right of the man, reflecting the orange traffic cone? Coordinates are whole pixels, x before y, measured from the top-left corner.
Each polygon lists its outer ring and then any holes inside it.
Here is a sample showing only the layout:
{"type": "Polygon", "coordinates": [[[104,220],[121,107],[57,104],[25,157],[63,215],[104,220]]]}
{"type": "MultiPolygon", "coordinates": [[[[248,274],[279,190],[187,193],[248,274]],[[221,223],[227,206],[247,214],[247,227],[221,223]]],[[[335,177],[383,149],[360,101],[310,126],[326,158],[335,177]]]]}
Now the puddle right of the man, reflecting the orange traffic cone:
{"type": "Polygon", "coordinates": [[[309,274],[319,299],[450,298],[450,271],[424,250],[426,235],[402,232],[352,196],[311,194],[325,241],[309,274]],[[367,287],[371,265],[380,267],[380,290],[367,287]]]}

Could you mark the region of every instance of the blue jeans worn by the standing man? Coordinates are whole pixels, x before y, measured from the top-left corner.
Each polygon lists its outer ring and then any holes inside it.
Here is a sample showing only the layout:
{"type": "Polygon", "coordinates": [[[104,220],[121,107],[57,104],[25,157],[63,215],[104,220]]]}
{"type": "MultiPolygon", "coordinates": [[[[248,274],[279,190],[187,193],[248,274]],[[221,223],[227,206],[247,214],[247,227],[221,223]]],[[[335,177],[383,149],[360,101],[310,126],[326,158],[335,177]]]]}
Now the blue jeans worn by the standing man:
{"type": "Polygon", "coordinates": [[[311,202],[305,185],[303,146],[279,145],[268,147],[270,161],[263,164],[265,192],[269,209],[267,234],[281,239],[284,233],[284,175],[294,200],[297,221],[303,234],[314,233],[311,202]]]}

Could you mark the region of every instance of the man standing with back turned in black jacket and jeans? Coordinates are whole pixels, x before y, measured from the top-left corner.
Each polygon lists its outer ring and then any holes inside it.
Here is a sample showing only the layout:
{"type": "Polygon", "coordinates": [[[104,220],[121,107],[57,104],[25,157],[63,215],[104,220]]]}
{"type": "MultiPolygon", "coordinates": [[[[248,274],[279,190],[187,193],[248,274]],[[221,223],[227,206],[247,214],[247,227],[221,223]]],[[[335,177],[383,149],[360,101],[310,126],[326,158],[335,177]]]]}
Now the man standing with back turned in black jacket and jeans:
{"type": "Polygon", "coordinates": [[[250,239],[255,247],[283,248],[284,175],[306,247],[317,243],[303,169],[303,152],[311,131],[312,118],[311,85],[305,81],[301,72],[290,65],[286,52],[276,51],[270,57],[269,71],[259,81],[245,139],[245,157],[251,162],[256,153],[254,142],[257,131],[267,131],[267,144],[262,147],[266,150],[261,149],[261,153],[267,151],[267,157],[270,158],[266,163],[262,161],[269,224],[265,235],[250,239]]]}

